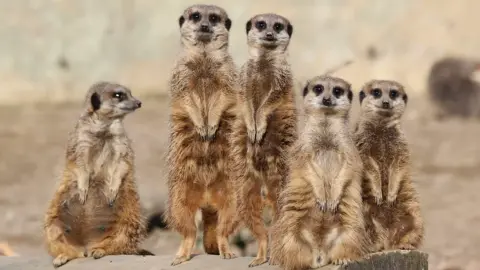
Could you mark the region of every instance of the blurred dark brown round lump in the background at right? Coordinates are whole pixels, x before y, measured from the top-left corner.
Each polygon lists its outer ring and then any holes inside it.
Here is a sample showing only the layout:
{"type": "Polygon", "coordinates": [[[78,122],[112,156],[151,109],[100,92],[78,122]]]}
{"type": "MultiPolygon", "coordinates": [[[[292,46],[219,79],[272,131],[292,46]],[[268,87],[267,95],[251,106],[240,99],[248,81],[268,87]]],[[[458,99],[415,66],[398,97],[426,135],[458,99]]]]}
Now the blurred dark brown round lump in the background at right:
{"type": "Polygon", "coordinates": [[[436,118],[480,118],[480,84],[471,77],[479,70],[478,59],[446,57],[433,63],[427,85],[436,118]]]}

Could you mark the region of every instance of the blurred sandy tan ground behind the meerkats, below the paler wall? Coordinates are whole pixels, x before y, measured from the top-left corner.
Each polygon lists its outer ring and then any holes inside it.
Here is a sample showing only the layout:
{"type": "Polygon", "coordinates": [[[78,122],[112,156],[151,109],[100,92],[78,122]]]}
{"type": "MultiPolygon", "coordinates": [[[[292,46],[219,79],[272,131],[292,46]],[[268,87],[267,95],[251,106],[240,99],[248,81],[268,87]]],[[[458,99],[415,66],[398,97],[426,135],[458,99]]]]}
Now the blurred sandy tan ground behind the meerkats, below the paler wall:
{"type": "MultiPolygon", "coordinates": [[[[166,98],[142,101],[144,106],[126,119],[126,128],[136,150],[141,200],[151,211],[166,195],[168,110],[166,98]]],[[[480,269],[480,122],[438,122],[427,111],[423,97],[411,97],[403,119],[426,222],[423,250],[429,253],[430,269],[480,269]]],[[[77,103],[0,108],[0,242],[7,241],[22,256],[45,255],[43,214],[79,112],[77,103]]],[[[178,244],[177,234],[157,230],[144,246],[171,255],[178,244]]]]}

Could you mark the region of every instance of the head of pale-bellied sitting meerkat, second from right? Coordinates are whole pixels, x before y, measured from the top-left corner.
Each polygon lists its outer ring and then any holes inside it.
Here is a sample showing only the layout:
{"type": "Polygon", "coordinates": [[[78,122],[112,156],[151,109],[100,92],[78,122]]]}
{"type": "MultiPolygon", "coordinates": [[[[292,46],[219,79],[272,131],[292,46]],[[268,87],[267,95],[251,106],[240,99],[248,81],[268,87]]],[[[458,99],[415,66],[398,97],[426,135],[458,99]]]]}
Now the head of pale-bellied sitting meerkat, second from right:
{"type": "Polygon", "coordinates": [[[347,115],[352,98],[350,83],[337,77],[318,76],[309,80],[303,88],[303,103],[307,112],[347,115]]]}

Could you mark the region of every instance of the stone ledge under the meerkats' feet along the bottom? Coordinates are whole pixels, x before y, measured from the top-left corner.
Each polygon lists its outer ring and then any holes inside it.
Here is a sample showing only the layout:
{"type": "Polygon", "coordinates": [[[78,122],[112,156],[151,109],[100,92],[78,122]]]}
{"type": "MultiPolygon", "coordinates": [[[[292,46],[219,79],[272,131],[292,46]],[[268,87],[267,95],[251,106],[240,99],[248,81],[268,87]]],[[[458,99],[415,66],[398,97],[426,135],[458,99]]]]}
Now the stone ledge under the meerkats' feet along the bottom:
{"type": "MultiPolygon", "coordinates": [[[[240,257],[232,260],[222,260],[218,256],[198,255],[189,262],[178,266],[170,266],[173,256],[107,256],[98,260],[91,258],[73,260],[62,266],[61,270],[102,269],[102,270],[240,270],[252,269],[248,267],[251,257],[240,257]]],[[[54,269],[48,257],[0,257],[0,269],[33,270],[54,269]]],[[[280,269],[276,266],[264,264],[255,267],[255,270],[280,269]]],[[[328,265],[324,270],[423,270],[428,269],[428,255],[420,251],[392,251],[375,253],[368,258],[346,266],[328,265]]]]}

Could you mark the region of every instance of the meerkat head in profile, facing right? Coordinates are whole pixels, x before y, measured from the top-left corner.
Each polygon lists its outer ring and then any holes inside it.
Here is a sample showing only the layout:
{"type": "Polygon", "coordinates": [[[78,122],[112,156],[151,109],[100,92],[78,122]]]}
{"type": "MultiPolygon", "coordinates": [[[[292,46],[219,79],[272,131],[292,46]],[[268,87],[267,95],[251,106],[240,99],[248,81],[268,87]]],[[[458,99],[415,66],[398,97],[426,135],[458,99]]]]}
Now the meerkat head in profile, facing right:
{"type": "Polygon", "coordinates": [[[122,118],[142,106],[142,102],[132,96],[130,89],[109,82],[93,84],[85,103],[89,114],[107,119],[122,118]]]}

